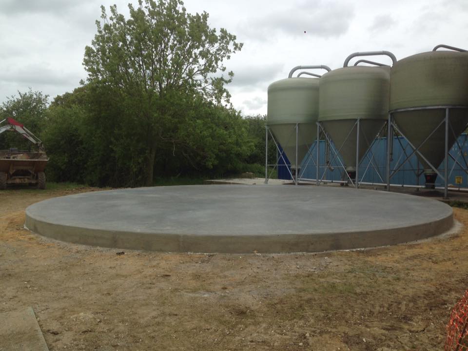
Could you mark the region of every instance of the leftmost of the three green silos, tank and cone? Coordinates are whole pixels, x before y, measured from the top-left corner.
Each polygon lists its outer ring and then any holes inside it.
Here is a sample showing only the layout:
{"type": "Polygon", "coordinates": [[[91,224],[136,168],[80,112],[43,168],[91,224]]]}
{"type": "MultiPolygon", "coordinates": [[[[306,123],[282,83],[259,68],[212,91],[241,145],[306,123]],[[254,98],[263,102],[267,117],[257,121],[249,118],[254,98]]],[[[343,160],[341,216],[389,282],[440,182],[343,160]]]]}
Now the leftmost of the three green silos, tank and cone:
{"type": "Polygon", "coordinates": [[[300,168],[316,139],[319,78],[286,78],[268,87],[267,125],[291,161],[291,168],[300,168]],[[296,165],[296,123],[297,137],[296,165]]]}

